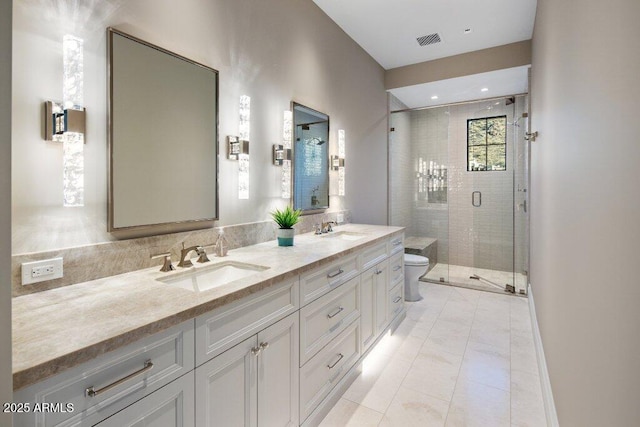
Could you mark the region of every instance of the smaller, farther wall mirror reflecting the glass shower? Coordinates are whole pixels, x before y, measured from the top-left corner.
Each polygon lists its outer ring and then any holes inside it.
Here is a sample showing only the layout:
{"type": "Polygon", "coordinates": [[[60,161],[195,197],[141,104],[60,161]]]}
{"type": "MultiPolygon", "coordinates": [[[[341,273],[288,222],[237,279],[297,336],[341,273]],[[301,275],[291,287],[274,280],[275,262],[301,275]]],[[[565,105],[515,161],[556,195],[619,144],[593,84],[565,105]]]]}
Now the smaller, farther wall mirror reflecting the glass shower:
{"type": "Polygon", "coordinates": [[[329,116],[293,103],[293,207],[329,207],[329,116]]]}

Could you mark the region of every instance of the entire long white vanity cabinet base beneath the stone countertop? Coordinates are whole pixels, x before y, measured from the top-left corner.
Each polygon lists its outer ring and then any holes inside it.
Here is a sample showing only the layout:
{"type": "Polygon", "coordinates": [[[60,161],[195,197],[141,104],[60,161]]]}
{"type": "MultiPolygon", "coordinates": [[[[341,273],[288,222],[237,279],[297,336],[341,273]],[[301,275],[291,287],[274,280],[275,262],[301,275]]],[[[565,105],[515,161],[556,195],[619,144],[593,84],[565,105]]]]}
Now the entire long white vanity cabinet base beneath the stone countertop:
{"type": "Polygon", "coordinates": [[[402,320],[402,245],[396,233],[352,247],[18,390],[14,402],[74,411],[16,414],[14,426],[317,425],[402,320]]]}

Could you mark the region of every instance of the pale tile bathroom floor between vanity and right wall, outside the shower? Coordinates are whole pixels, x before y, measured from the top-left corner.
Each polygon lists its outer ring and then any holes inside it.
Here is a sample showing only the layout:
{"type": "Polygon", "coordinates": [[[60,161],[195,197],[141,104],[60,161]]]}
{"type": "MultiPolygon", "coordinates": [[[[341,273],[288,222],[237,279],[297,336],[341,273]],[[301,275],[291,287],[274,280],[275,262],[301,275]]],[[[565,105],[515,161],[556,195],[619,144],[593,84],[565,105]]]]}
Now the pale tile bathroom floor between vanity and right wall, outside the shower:
{"type": "Polygon", "coordinates": [[[321,426],[546,426],[527,300],[420,287],[321,426]]]}

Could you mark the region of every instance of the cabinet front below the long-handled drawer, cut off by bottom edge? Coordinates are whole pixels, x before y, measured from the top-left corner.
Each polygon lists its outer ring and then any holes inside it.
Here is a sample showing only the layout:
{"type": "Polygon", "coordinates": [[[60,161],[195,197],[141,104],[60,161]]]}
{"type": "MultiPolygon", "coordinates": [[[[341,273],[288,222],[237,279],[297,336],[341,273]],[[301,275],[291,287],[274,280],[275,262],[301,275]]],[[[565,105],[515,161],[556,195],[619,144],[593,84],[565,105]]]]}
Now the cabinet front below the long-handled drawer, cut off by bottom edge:
{"type": "Polygon", "coordinates": [[[193,371],[112,415],[98,427],[189,427],[194,424],[193,371]]]}

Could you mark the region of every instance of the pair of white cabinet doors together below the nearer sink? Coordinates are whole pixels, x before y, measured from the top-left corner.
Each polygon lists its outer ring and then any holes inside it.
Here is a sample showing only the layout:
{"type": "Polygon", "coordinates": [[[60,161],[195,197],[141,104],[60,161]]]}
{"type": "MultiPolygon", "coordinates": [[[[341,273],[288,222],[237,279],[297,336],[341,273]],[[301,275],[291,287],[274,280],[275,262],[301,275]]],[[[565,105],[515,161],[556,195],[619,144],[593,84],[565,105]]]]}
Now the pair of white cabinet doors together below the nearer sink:
{"type": "Polygon", "coordinates": [[[298,313],[196,368],[196,427],[298,425],[298,313]]]}

